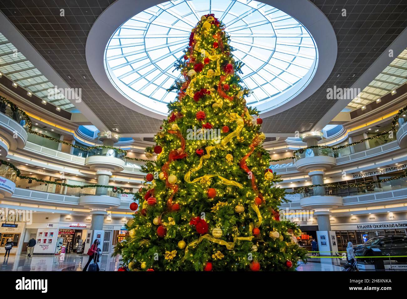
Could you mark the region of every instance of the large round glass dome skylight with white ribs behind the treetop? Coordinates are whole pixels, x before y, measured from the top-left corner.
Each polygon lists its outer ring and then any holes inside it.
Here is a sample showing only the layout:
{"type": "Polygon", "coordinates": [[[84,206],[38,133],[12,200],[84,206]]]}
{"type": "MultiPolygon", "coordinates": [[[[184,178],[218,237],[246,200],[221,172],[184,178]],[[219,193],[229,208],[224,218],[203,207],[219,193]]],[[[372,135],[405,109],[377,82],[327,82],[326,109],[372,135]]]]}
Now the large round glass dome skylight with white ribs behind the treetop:
{"type": "Polygon", "coordinates": [[[181,73],[174,63],[184,55],[191,30],[201,15],[214,13],[230,34],[242,68],[243,83],[253,91],[247,105],[274,109],[302,91],[318,61],[307,29],[283,11],[257,1],[178,0],[153,6],[130,18],[109,39],[105,70],[129,100],[166,115],[176,97],[167,92],[181,73]]]}

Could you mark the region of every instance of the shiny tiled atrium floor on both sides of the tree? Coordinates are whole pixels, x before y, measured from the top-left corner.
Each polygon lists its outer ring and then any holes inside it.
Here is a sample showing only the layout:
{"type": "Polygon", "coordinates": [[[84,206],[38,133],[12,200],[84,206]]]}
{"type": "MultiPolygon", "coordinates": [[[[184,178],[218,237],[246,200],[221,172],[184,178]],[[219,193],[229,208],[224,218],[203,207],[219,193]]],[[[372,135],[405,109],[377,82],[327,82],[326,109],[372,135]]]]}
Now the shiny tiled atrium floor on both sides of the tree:
{"type": "MultiPolygon", "coordinates": [[[[9,258],[0,257],[0,271],[82,271],[88,255],[34,255],[28,258],[26,255],[10,255],[9,258]]],[[[102,255],[99,263],[101,271],[116,271],[120,266],[119,257],[111,258],[110,255],[102,255]]],[[[311,261],[306,264],[300,263],[298,271],[342,271],[343,267],[333,265],[327,259],[324,262],[311,261]]]]}

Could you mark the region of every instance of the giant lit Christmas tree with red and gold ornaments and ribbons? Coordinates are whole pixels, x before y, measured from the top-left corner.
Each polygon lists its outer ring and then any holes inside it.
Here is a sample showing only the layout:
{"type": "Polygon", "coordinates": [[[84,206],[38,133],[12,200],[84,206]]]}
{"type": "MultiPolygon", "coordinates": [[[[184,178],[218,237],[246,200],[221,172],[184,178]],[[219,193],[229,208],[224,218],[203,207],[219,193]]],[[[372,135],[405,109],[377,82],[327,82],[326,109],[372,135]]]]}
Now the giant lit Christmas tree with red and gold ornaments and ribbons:
{"type": "Polygon", "coordinates": [[[142,170],[129,236],[114,254],[137,271],[283,271],[305,258],[295,223],[280,219],[284,190],[261,146],[258,111],[238,75],[230,37],[213,14],[192,30],[176,67],[177,99],[142,170]],[[138,203],[138,204],[137,204],[138,203]]]}

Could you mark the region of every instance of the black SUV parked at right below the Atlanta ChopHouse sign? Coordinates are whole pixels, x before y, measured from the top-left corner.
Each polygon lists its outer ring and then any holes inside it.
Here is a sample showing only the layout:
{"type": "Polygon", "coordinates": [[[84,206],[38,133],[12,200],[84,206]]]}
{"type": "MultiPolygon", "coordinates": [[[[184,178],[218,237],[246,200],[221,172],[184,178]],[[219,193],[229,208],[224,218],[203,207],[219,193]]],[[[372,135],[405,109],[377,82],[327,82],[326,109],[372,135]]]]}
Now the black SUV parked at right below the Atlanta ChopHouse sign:
{"type": "MultiPolygon", "coordinates": [[[[364,244],[354,246],[354,250],[356,256],[407,255],[407,236],[376,236],[364,244]],[[381,252],[379,252],[379,250],[381,252]]],[[[394,260],[403,262],[406,261],[407,258],[394,258],[394,260]]]]}

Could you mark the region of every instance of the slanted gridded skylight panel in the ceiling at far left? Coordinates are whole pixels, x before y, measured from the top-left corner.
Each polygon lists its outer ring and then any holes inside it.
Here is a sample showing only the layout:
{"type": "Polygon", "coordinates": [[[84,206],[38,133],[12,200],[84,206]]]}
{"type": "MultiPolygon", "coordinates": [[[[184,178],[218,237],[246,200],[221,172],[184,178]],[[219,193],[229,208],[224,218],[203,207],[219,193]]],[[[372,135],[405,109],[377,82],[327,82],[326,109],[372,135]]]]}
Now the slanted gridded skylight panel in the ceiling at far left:
{"type": "Polygon", "coordinates": [[[54,84],[22,53],[18,52],[18,49],[2,33],[0,33],[0,72],[47,102],[62,109],[74,108],[74,105],[61,92],[48,98],[50,95],[48,89],[53,89],[54,84]]]}

